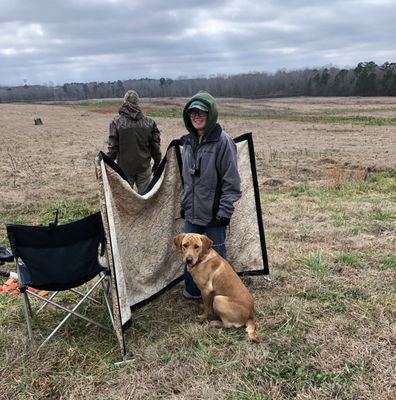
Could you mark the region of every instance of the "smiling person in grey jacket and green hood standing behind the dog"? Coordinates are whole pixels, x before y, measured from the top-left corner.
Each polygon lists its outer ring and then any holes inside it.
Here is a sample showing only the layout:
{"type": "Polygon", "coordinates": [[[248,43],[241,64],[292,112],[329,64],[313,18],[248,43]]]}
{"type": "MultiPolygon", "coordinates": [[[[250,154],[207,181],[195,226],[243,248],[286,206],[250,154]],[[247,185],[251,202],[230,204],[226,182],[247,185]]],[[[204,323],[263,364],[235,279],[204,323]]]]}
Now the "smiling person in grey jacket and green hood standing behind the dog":
{"type": "MultiPolygon", "coordinates": [[[[181,138],[184,232],[206,234],[213,248],[227,258],[226,227],[241,197],[237,149],[217,122],[216,100],[206,91],[195,94],[183,110],[189,132],[181,138]]],[[[200,298],[190,273],[184,270],[186,298],[200,298]]]]}

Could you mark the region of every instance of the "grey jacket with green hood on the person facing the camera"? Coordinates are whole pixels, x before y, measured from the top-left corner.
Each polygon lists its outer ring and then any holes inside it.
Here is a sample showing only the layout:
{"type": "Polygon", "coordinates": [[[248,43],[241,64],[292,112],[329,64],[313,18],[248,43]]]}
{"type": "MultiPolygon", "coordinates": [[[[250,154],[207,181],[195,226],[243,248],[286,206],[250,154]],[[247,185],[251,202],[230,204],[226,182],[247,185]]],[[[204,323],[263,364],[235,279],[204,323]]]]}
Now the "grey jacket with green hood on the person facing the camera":
{"type": "Polygon", "coordinates": [[[217,123],[215,99],[200,91],[186,104],[184,124],[189,133],[183,143],[183,181],[181,207],[192,224],[207,226],[216,217],[231,218],[234,203],[241,197],[237,150],[232,138],[217,123]],[[188,115],[188,107],[200,100],[209,108],[201,143],[188,115]]]}

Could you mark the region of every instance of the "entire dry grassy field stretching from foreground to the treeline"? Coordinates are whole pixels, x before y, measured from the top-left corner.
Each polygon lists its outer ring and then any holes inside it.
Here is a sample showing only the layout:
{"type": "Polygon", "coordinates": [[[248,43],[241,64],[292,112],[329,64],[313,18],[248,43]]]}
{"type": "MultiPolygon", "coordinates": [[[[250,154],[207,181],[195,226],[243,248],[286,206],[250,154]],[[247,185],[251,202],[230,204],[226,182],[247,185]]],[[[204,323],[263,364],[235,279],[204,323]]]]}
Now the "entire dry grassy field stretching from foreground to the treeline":
{"type": "MultiPolygon", "coordinates": [[[[185,101],[142,99],[164,151],[185,101]]],[[[197,322],[178,286],[135,313],[124,367],[115,338],[80,322],[36,354],[20,299],[0,292],[0,398],[396,397],[396,99],[218,103],[232,136],[253,132],[271,281],[245,283],[261,343],[197,322]]],[[[118,105],[0,104],[0,242],[5,223],[98,209],[93,160],[118,105]]]]}

